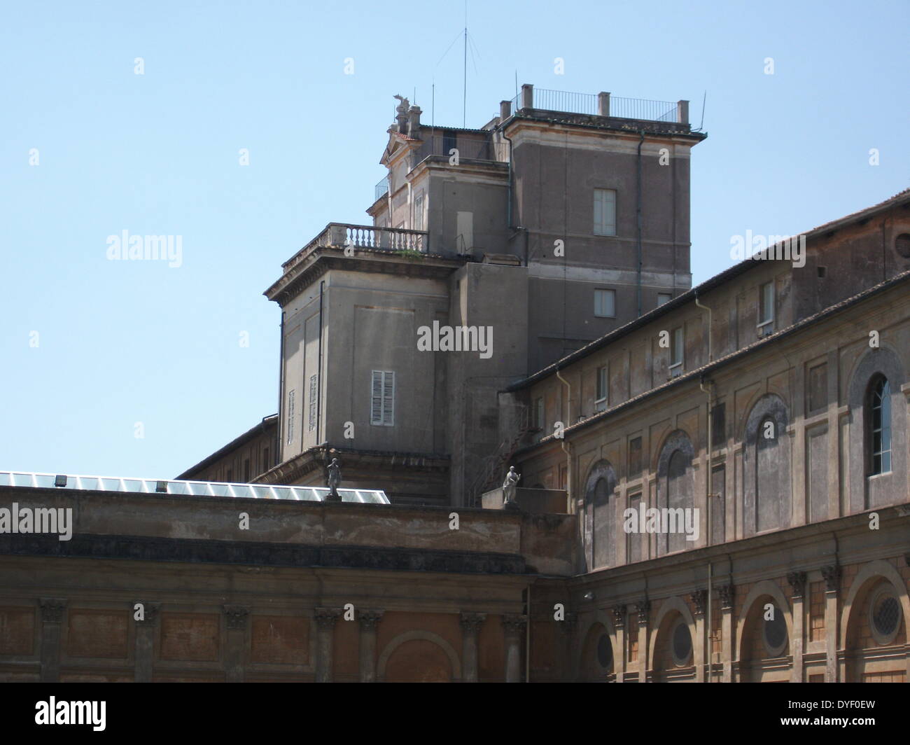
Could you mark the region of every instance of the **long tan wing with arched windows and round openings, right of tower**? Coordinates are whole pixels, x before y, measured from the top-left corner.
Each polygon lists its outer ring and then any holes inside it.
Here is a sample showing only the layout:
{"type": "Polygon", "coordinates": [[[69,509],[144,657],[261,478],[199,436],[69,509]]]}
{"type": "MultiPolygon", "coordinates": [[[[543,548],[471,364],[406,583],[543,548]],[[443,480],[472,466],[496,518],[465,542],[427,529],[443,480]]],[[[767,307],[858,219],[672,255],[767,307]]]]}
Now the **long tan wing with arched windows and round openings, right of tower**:
{"type": "Polygon", "coordinates": [[[574,679],[906,680],[908,208],[811,230],[799,265],[745,260],[510,387],[537,425],[511,462],[578,517],[578,575],[535,585],[578,611],[574,679]],[[632,519],[649,509],[692,529],[632,519]]]}

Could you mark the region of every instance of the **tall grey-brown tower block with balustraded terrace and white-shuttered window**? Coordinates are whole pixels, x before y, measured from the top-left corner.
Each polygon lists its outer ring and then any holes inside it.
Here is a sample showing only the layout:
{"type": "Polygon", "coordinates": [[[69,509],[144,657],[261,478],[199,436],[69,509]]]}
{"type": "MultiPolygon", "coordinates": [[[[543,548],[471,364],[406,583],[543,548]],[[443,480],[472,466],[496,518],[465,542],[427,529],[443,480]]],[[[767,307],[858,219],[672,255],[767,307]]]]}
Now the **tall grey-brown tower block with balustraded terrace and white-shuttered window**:
{"type": "Polygon", "coordinates": [[[705,135],[685,101],[524,86],[464,129],[400,100],[372,224],[329,223],[266,291],[278,460],[256,477],[324,483],[331,451],[395,503],[477,505],[498,391],[691,287],[689,156],[705,135]],[[470,351],[448,351],[447,328],[470,351]]]}

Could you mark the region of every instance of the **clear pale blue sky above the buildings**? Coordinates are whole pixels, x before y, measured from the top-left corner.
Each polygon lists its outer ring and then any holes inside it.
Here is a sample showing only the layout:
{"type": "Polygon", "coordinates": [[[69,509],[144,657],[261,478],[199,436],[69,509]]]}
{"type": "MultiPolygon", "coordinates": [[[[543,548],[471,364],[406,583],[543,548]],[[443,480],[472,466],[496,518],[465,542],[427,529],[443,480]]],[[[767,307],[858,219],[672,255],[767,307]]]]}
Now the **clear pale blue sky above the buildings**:
{"type": "MultiPolygon", "coordinates": [[[[696,124],[707,90],[700,282],[732,235],[794,234],[908,185],[908,8],[470,0],[468,126],[516,70],[688,98],[696,124]]],[[[277,410],[279,311],[261,293],[327,222],[369,221],[392,96],[416,88],[426,120],[435,79],[435,121],[460,126],[460,42],[440,57],[462,6],[61,1],[4,20],[0,468],[177,475],[277,410]],[[122,230],[182,236],[182,265],[107,260],[122,230]]]]}

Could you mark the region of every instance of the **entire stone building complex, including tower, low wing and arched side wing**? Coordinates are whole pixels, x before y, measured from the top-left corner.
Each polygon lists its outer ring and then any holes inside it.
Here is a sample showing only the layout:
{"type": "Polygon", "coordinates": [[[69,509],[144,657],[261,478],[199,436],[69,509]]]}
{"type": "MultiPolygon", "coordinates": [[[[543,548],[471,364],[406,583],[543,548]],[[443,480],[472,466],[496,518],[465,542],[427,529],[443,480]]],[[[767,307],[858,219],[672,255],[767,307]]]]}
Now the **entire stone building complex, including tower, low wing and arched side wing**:
{"type": "Polygon", "coordinates": [[[0,472],[0,679],[907,681],[910,189],[690,288],[684,102],[645,125],[531,95],[439,147],[402,101],[375,225],[268,291],[281,411],[182,475],[205,483],[0,472]],[[630,254],[639,144],[671,201],[630,254]],[[576,149],[615,158],[572,184],[616,192],[617,235],[548,258],[576,149]],[[416,351],[432,321],[491,325],[492,355],[416,351]],[[341,503],[310,488],[328,457],[341,503]],[[69,539],[10,531],[52,509],[69,539]]]}

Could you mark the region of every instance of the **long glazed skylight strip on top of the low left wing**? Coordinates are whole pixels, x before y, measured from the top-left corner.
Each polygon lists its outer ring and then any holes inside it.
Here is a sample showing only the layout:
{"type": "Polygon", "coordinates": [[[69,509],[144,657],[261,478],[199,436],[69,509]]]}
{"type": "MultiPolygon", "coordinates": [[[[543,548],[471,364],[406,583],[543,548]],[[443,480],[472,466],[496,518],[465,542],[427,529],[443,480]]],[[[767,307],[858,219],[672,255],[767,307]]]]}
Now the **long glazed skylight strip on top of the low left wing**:
{"type": "MultiPolygon", "coordinates": [[[[285,486],[270,484],[228,484],[213,481],[120,476],[38,474],[26,471],[0,471],[0,486],[38,489],[76,489],[121,494],[169,494],[183,496],[228,496],[238,499],[288,499],[298,502],[325,502],[325,486],[285,486]]],[[[389,497],[379,489],[339,489],[342,502],[389,505],[389,497]]]]}

